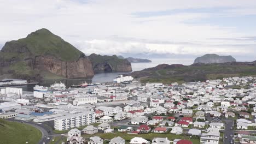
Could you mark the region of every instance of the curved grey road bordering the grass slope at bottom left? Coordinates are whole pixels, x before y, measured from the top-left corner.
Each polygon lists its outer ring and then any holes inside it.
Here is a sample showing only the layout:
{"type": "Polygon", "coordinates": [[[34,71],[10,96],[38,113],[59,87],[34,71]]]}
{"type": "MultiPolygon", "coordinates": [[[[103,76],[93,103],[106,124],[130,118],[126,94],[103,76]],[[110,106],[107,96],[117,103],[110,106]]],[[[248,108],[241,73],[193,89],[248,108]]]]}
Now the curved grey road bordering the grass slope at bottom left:
{"type": "Polygon", "coordinates": [[[8,119],[8,120],[13,121],[13,122],[20,122],[20,123],[24,122],[26,124],[31,125],[32,127],[39,129],[42,133],[42,139],[38,142],[38,144],[42,144],[43,142],[45,142],[45,144],[50,143],[52,137],[60,135],[60,134],[54,134],[53,129],[45,126],[44,124],[31,122],[31,121],[20,121],[20,120],[16,120],[16,119],[8,119]],[[48,133],[48,131],[49,131],[49,133],[48,133]],[[48,137],[50,138],[49,140],[48,140],[48,137]]]}

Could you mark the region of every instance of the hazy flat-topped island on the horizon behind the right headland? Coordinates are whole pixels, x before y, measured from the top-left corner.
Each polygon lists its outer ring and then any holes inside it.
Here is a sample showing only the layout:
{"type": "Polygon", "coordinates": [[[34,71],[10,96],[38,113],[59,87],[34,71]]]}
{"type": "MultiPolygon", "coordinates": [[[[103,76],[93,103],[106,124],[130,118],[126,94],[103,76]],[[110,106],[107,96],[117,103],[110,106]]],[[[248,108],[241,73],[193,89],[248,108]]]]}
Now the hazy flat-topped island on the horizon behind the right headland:
{"type": "Polygon", "coordinates": [[[236,62],[236,59],[232,56],[219,56],[216,54],[206,54],[201,57],[197,57],[194,63],[227,63],[236,62]]]}

